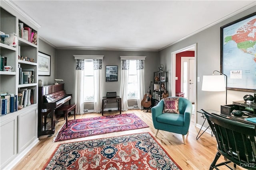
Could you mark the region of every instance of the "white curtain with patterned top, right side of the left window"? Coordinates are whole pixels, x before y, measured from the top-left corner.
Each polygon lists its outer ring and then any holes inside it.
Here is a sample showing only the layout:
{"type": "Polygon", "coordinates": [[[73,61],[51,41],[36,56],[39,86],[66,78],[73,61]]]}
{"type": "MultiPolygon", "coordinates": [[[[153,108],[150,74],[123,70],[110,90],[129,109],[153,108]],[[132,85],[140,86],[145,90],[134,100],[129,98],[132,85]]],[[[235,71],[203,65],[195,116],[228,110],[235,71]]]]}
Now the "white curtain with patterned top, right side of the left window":
{"type": "Polygon", "coordinates": [[[102,60],[93,59],[94,68],[94,112],[100,113],[102,106],[102,60]]]}

